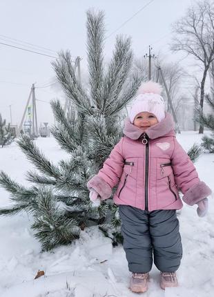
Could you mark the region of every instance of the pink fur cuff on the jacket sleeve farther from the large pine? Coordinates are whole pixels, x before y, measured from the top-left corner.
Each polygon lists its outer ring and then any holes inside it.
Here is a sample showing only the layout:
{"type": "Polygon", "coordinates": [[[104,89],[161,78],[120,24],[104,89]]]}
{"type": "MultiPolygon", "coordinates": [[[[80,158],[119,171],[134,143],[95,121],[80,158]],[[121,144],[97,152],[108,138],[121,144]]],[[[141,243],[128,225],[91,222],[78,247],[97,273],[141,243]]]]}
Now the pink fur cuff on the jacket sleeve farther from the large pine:
{"type": "Polygon", "coordinates": [[[199,182],[191,186],[184,194],[183,200],[186,204],[193,206],[195,203],[211,195],[211,189],[205,184],[205,182],[199,182]]]}

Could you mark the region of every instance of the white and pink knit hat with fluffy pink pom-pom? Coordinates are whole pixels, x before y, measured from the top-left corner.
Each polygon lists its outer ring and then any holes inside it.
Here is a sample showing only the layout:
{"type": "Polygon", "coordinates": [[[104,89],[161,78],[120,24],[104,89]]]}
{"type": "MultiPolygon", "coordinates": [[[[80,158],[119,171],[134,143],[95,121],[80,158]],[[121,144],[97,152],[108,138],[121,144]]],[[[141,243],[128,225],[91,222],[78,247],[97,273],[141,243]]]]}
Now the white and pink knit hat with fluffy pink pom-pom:
{"type": "Polygon", "coordinates": [[[131,106],[129,119],[133,123],[136,115],[147,111],[153,113],[158,122],[161,122],[165,117],[164,99],[160,95],[162,93],[162,86],[156,82],[146,82],[139,87],[137,97],[131,106]]]}

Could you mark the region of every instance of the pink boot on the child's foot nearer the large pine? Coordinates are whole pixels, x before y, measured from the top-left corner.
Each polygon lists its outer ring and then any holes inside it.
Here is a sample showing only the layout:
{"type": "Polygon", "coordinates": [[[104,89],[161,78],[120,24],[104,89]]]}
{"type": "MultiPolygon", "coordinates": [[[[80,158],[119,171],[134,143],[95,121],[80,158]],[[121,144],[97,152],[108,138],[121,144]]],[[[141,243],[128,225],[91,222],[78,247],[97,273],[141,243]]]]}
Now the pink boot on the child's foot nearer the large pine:
{"type": "Polygon", "coordinates": [[[130,279],[130,290],[135,293],[143,293],[148,289],[148,273],[133,274],[130,279]]]}

